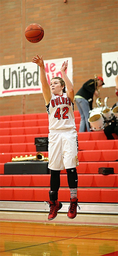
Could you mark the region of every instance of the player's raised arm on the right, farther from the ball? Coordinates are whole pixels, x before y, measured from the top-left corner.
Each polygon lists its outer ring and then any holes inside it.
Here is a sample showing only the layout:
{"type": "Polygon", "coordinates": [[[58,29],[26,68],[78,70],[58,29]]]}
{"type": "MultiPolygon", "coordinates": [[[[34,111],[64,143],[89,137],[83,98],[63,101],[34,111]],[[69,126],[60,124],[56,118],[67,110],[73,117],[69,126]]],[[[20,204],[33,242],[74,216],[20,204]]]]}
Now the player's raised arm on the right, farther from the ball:
{"type": "Polygon", "coordinates": [[[67,64],[68,64],[68,61],[64,61],[62,66],[61,66],[61,73],[62,73],[62,76],[63,76],[63,80],[65,82],[65,85],[67,87],[67,97],[73,102],[74,100],[74,89],[73,89],[73,85],[71,83],[71,81],[69,80],[69,78],[67,77],[66,73],[65,73],[65,70],[67,69],[67,64]]]}

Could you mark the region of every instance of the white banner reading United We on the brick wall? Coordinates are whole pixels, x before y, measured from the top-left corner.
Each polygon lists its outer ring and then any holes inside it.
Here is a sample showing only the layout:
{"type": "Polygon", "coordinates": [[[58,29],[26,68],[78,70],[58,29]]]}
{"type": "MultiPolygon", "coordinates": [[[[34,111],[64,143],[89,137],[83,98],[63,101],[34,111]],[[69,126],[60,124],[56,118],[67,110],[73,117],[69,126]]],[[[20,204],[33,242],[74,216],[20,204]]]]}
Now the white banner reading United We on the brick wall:
{"type": "MultiPolygon", "coordinates": [[[[66,74],[73,83],[72,58],[60,58],[44,61],[47,81],[52,77],[62,77],[60,68],[68,60],[66,74]]],[[[32,62],[0,66],[0,97],[42,93],[40,67],[32,62]]]]}

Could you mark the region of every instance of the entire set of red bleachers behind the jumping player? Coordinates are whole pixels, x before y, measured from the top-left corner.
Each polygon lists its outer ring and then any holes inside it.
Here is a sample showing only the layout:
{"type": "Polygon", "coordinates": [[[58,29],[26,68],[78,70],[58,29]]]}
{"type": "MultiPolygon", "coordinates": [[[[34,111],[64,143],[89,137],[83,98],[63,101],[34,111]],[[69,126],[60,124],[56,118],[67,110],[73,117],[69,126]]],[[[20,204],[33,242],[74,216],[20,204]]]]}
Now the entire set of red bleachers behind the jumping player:
{"type": "MultiPolygon", "coordinates": [[[[76,130],[80,115],[74,112],[76,130]]],[[[47,113],[1,116],[0,200],[47,201],[50,174],[4,175],[4,163],[16,155],[36,155],[36,137],[48,136],[47,113]]],[[[118,140],[107,140],[104,131],[78,133],[78,198],[80,202],[117,203],[118,140]],[[113,167],[111,175],[98,174],[99,167],[113,167]]],[[[48,152],[42,152],[45,157],[48,152]]],[[[59,200],[70,201],[66,170],[61,170],[59,200]]]]}

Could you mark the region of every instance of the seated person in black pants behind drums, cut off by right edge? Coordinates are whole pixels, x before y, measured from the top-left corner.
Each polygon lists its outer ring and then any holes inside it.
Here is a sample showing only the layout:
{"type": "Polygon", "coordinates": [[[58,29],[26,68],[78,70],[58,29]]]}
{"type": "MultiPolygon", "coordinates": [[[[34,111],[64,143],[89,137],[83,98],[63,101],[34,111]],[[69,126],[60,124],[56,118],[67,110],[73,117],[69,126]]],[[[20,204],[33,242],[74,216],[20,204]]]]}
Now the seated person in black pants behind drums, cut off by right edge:
{"type": "MultiPolygon", "coordinates": [[[[118,76],[116,77],[115,81],[116,81],[115,93],[118,97],[118,76]]],[[[118,101],[112,106],[112,109],[115,106],[118,106],[118,101]]],[[[112,133],[115,133],[118,136],[118,118],[116,118],[115,116],[112,118],[109,125],[104,128],[104,133],[107,139],[114,139],[114,136],[112,135],[112,133]]]]}

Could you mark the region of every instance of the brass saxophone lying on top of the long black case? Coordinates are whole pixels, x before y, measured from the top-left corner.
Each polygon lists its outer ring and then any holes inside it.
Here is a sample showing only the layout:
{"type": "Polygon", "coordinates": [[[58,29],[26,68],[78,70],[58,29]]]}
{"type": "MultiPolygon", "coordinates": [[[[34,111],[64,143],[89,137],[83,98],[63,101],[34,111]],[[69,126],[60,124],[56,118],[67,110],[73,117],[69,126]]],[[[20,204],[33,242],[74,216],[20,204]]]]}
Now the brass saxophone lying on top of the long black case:
{"type": "Polygon", "coordinates": [[[48,157],[44,157],[41,152],[37,152],[36,155],[25,155],[24,157],[21,155],[20,157],[16,156],[12,157],[12,162],[20,162],[20,161],[48,161],[48,157]]]}

